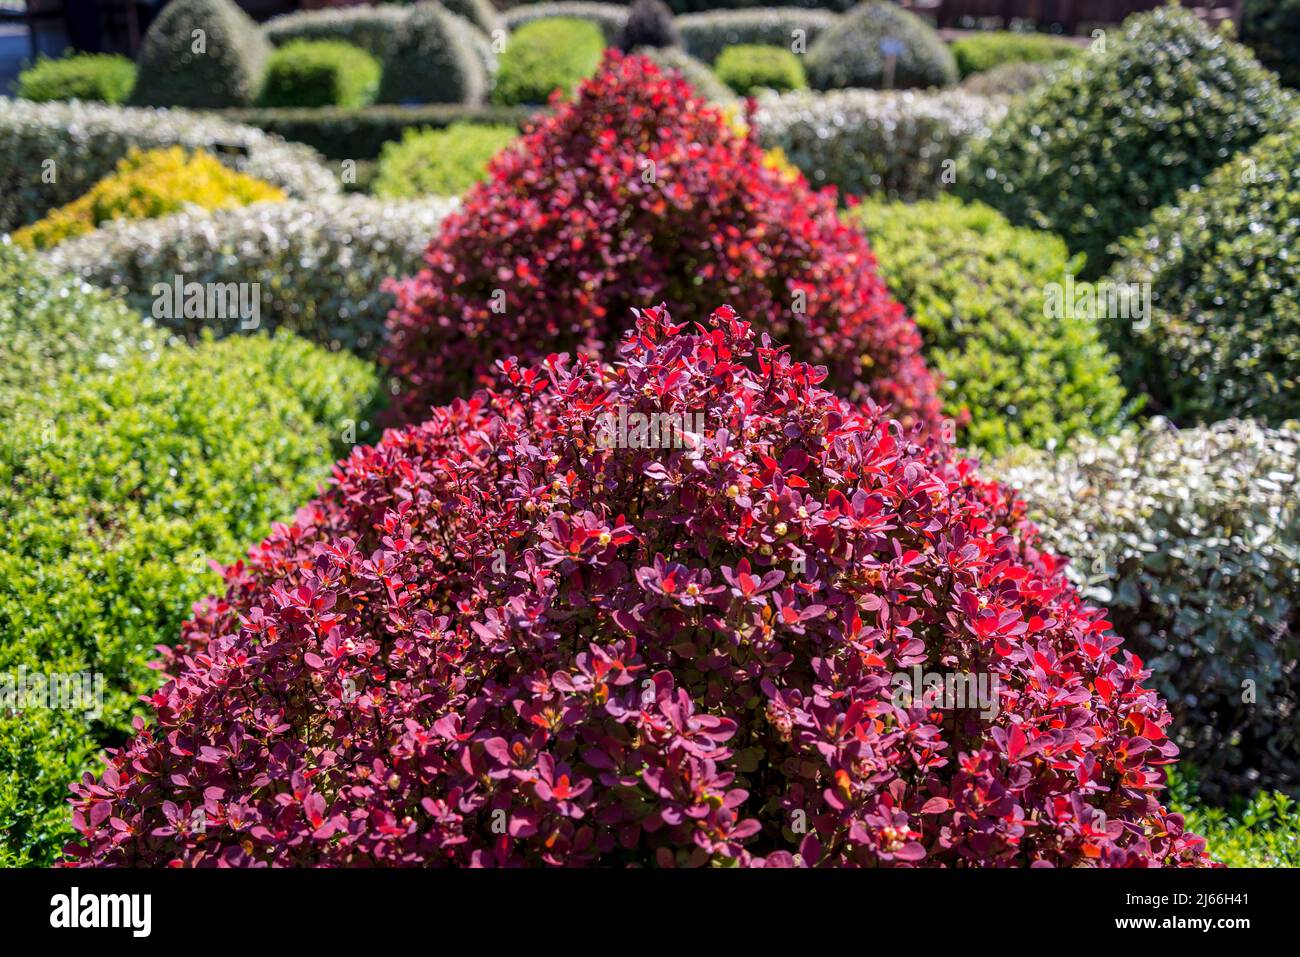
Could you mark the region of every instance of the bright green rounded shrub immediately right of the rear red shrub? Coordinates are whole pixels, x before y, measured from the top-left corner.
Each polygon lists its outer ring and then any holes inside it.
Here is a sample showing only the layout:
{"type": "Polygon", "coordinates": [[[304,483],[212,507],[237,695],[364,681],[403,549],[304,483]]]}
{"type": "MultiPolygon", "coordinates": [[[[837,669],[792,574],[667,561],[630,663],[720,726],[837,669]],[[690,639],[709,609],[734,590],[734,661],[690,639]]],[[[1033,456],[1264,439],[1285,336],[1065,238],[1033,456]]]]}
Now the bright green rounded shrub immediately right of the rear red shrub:
{"type": "Polygon", "coordinates": [[[1096,325],[1044,316],[1046,285],[1078,267],[1061,239],[950,198],[868,202],[852,217],[916,319],[945,412],[967,420],[962,445],[1000,454],[1121,424],[1124,391],[1096,325]]]}

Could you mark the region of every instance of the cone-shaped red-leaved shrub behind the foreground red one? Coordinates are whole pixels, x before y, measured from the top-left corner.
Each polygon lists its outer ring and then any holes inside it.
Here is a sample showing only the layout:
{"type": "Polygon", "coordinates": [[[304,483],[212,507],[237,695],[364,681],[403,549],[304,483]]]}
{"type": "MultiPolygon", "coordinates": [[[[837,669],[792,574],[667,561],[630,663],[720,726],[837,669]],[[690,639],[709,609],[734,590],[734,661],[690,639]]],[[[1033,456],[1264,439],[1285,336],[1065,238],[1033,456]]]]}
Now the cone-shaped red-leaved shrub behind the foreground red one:
{"type": "Polygon", "coordinates": [[[703,321],[729,303],[841,395],[939,421],[915,324],[835,195],[763,151],[676,73],[611,52],[576,100],[495,157],[395,286],[382,360],[395,415],[469,395],[506,356],[612,358],[633,307],[703,321]]]}

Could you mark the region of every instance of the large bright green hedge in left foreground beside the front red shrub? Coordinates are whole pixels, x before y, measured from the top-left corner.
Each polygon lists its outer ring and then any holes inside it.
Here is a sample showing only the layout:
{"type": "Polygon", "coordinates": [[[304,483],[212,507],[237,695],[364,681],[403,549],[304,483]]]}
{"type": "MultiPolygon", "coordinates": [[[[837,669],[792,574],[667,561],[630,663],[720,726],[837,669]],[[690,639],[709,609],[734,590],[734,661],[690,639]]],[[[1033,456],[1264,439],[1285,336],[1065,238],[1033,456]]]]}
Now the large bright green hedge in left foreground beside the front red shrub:
{"type": "Polygon", "coordinates": [[[68,380],[0,430],[0,674],[103,676],[98,715],[0,716],[0,863],[57,856],[68,783],[122,740],[155,646],[221,588],[208,559],[239,559],[313,493],[376,387],[360,359],[256,335],[68,380]]]}

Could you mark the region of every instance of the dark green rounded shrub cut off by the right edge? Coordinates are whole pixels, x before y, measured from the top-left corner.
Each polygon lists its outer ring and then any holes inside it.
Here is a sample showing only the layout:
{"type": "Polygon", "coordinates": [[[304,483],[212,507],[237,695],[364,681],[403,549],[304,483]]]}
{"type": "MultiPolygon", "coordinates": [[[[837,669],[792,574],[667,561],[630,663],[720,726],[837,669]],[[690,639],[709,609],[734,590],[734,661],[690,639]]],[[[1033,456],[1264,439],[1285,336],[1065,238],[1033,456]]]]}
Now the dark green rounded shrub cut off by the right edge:
{"type": "Polygon", "coordinates": [[[1179,192],[1121,246],[1147,324],[1112,324],[1134,387],[1187,424],[1300,419],[1300,124],[1179,192]]]}

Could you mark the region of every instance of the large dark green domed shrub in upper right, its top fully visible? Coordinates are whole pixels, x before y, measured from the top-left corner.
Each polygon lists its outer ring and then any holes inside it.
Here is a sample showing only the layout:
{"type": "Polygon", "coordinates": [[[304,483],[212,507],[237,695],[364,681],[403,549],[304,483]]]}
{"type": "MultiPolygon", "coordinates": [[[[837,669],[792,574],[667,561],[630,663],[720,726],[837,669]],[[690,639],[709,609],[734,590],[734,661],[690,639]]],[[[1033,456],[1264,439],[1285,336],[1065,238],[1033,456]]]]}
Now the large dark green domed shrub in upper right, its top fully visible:
{"type": "Polygon", "coordinates": [[[1115,239],[1291,111],[1248,49],[1162,7],[1130,17],[1104,52],[1017,101],[972,144],[956,189],[1018,225],[1060,233],[1096,278],[1115,239]]]}

